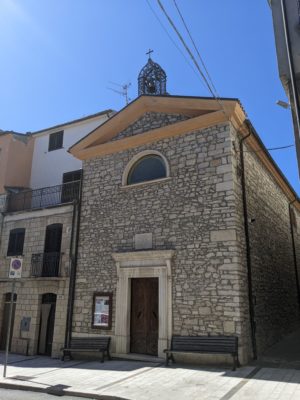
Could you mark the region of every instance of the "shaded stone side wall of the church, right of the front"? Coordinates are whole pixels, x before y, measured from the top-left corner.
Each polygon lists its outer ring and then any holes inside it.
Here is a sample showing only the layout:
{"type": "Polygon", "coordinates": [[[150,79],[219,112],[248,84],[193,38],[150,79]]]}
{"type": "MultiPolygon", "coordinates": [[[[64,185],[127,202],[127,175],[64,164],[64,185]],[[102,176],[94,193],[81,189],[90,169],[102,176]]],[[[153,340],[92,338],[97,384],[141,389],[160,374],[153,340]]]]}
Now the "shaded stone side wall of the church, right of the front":
{"type": "MultiPolygon", "coordinates": [[[[233,158],[237,226],[241,254],[246,255],[242,204],[240,152],[233,158]]],[[[258,355],[299,322],[295,266],[292,253],[289,200],[257,154],[244,146],[250,256],[258,355]]],[[[298,248],[300,247],[298,237],[298,248]]],[[[242,257],[245,271],[246,257],[242,257]]],[[[246,281],[245,281],[246,282],[246,281]]],[[[246,288],[246,285],[245,285],[246,288]]]]}

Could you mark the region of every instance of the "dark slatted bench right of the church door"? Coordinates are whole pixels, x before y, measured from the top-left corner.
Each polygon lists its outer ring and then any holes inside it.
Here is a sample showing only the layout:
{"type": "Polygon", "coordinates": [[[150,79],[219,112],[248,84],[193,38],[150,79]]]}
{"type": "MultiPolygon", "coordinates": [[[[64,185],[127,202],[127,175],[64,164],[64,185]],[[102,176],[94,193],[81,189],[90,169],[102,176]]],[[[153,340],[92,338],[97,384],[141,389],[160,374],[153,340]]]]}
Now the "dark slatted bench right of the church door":
{"type": "Polygon", "coordinates": [[[173,336],[171,348],[164,350],[164,353],[166,366],[169,360],[175,362],[174,353],[230,354],[233,358],[233,371],[240,366],[236,336],[173,336]]]}

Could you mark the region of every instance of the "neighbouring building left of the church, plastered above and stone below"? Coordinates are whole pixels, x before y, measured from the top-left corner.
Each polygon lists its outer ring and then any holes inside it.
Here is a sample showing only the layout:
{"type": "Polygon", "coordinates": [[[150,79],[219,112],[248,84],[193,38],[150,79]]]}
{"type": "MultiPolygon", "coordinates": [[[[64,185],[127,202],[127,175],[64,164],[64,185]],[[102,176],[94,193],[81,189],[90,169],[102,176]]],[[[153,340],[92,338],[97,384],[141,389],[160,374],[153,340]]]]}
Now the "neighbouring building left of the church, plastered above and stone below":
{"type": "Polygon", "coordinates": [[[76,259],[82,162],[70,145],[101,125],[106,110],[22,135],[0,134],[0,348],[7,338],[11,260],[22,259],[10,348],[59,356],[68,327],[70,275],[76,259]]]}

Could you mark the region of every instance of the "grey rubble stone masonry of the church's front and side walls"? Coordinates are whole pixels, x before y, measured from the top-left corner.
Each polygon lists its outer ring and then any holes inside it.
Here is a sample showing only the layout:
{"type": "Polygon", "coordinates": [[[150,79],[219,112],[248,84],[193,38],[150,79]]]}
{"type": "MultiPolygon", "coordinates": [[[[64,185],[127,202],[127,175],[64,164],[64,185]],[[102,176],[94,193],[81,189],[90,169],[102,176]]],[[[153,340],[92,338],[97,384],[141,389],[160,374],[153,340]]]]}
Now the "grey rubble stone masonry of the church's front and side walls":
{"type": "MultiPolygon", "coordinates": [[[[174,118],[174,114],[147,113],[114,140],[187,117],[174,118]]],[[[124,278],[118,275],[120,267],[113,255],[172,250],[172,320],[168,334],[237,335],[241,362],[251,358],[238,140],[232,125],[222,123],[84,161],[72,327],[75,336],[108,334],[113,351],[115,345],[124,349],[120,343],[128,337],[126,331],[122,333],[120,322],[116,326],[116,312],[121,315],[122,303],[122,299],[116,302],[116,296],[117,288],[118,293],[125,293],[122,290],[129,283],[124,284],[124,278]],[[169,176],[123,186],[126,180],[122,181],[122,176],[130,161],[141,152],[151,151],[165,157],[169,176]],[[95,292],[113,293],[110,330],[92,327],[95,292]]],[[[245,170],[255,337],[261,354],[293,329],[299,305],[289,200],[251,151],[245,153],[245,170]]],[[[299,259],[298,221],[296,215],[293,229],[299,259]]],[[[132,265],[134,269],[136,264],[132,265]]],[[[126,276],[128,281],[130,275],[126,276]]],[[[129,318],[130,307],[127,310],[129,318]]]]}

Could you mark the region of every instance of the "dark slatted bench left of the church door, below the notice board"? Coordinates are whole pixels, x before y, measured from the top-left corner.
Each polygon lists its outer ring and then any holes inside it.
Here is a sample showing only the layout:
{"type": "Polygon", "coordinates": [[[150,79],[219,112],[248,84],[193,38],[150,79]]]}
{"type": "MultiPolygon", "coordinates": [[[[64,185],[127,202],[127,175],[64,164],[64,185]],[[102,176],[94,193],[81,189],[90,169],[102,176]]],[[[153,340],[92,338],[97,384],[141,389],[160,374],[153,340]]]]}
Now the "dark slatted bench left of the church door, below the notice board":
{"type": "Polygon", "coordinates": [[[110,336],[101,336],[101,337],[82,337],[82,338],[73,338],[70,341],[69,347],[63,347],[61,351],[63,355],[61,357],[62,361],[65,361],[65,357],[69,357],[72,360],[71,353],[102,353],[101,362],[104,362],[105,353],[107,358],[111,360],[111,356],[109,353],[109,345],[110,345],[110,336]]]}

